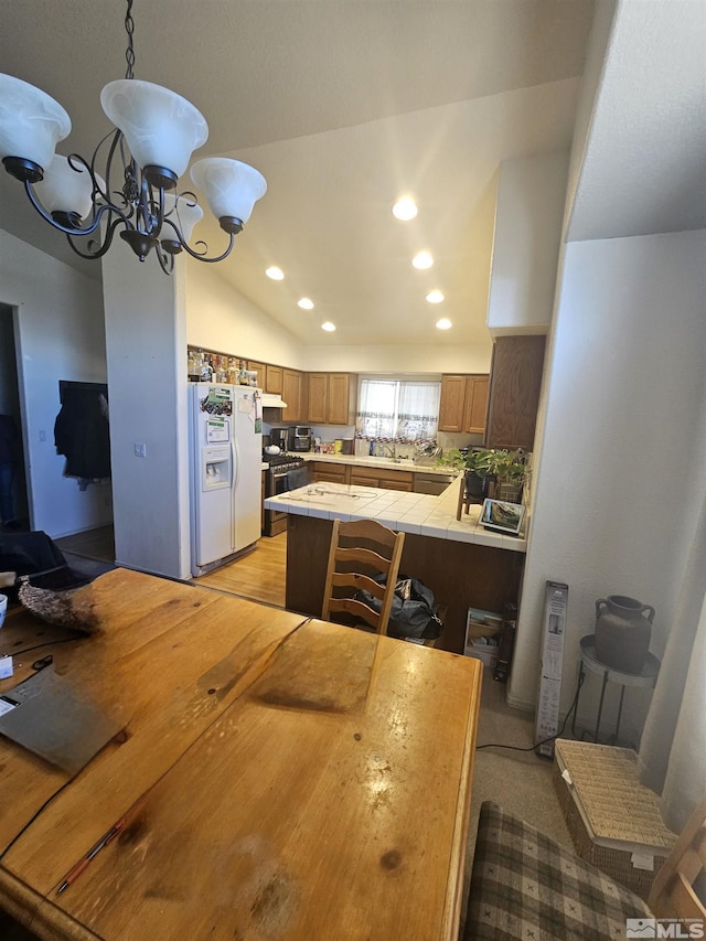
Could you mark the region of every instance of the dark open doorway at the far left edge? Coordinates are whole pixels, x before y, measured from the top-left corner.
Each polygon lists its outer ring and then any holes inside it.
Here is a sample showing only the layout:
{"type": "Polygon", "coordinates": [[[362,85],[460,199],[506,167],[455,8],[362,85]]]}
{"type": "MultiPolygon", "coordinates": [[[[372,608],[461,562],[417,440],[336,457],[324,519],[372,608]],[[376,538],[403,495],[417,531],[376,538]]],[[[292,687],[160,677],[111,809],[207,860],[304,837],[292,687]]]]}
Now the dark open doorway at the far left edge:
{"type": "Polygon", "coordinates": [[[17,468],[12,481],[13,516],[7,528],[29,531],[30,502],[28,498],[24,463],[24,435],[20,384],[18,381],[18,350],[14,329],[14,309],[0,303],[0,415],[9,415],[19,435],[17,468]]]}

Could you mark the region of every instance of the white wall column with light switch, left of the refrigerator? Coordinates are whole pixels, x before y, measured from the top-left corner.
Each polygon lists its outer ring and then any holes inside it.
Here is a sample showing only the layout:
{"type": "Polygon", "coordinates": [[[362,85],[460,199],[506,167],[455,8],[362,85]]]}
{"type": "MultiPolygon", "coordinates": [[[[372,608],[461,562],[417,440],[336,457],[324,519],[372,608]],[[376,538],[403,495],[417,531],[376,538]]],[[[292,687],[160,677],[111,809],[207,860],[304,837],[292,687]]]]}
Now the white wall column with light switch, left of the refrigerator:
{"type": "Polygon", "coordinates": [[[190,577],[185,271],[116,238],[103,260],[116,562],[190,577]],[[146,457],[137,457],[136,443],[146,457]]]}

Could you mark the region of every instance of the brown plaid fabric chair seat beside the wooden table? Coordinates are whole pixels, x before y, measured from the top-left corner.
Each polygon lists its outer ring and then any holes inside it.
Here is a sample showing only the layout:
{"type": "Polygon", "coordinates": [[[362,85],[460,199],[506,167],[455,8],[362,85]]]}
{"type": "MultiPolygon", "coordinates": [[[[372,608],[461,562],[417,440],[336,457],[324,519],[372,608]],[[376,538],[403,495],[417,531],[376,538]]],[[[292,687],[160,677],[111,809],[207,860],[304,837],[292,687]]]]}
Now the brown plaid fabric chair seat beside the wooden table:
{"type": "Polygon", "coordinates": [[[597,941],[651,918],[641,898],[492,801],[481,806],[464,941],[597,941]]]}

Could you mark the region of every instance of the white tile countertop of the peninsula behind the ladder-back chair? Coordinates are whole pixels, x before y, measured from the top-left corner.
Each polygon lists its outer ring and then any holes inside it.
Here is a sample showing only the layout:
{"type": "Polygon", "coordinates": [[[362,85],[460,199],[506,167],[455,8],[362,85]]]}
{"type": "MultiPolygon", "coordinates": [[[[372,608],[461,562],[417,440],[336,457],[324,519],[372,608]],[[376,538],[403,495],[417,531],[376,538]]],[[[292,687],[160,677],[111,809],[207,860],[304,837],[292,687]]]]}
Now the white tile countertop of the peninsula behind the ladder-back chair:
{"type": "Polygon", "coordinates": [[[265,507],[323,520],[377,520],[403,533],[525,553],[526,532],[517,537],[485,530],[478,522],[480,505],[470,506],[469,513],[456,518],[461,483],[462,479],[457,478],[439,496],[343,483],[310,483],[268,498],[265,507]]]}

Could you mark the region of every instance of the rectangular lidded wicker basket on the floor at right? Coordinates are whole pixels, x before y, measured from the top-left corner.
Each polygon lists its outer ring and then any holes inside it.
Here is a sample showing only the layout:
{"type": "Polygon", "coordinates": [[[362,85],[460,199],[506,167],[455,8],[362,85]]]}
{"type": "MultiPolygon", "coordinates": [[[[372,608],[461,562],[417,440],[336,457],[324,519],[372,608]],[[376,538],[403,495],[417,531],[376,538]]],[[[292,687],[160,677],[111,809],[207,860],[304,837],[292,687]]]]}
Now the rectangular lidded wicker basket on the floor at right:
{"type": "Polygon", "coordinates": [[[646,900],[676,835],[664,826],[656,795],[638,781],[635,752],[557,739],[554,783],[577,854],[646,900]],[[652,857],[653,868],[633,865],[633,854],[652,857]]]}

